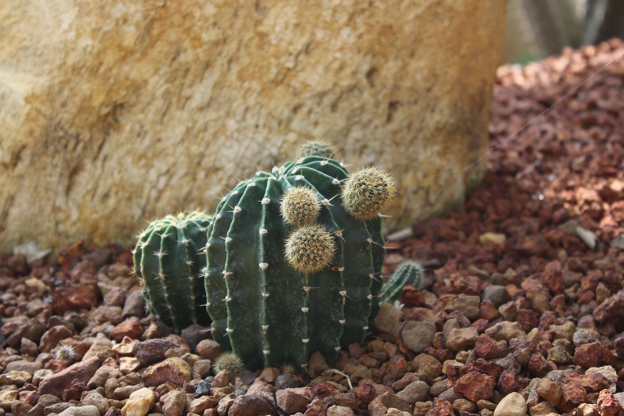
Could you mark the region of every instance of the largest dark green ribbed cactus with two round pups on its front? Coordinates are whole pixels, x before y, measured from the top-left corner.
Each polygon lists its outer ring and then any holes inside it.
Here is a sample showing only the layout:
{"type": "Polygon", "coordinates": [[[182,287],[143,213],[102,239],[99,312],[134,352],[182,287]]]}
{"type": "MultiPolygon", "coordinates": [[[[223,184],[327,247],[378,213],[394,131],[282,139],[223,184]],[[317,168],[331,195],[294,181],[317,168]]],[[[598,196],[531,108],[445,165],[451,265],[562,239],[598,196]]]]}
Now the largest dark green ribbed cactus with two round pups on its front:
{"type": "Polygon", "coordinates": [[[331,363],[341,347],[363,342],[385,250],[380,215],[358,220],[344,207],[347,179],[334,159],[301,157],[256,172],[217,207],[207,310],[213,339],[249,369],[305,370],[312,352],[331,363]]]}

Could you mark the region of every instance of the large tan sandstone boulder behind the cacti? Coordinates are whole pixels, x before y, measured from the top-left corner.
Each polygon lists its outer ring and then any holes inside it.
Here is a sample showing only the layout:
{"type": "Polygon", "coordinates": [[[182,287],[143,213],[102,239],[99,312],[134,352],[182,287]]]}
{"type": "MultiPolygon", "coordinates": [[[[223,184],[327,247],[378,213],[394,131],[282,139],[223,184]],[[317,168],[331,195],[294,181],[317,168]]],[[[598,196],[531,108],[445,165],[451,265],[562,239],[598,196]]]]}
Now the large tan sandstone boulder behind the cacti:
{"type": "Polygon", "coordinates": [[[390,225],[484,165],[505,0],[4,0],[0,250],[133,240],[213,209],[309,139],[401,191],[390,225]]]}

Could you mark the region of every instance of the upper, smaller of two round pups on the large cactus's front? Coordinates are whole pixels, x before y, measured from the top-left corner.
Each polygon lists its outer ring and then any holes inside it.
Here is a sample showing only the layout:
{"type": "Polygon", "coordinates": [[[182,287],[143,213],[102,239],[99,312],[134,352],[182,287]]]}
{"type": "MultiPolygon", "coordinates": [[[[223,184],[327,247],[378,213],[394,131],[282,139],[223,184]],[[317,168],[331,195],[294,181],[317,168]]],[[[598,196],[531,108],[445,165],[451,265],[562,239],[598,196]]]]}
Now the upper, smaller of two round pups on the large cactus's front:
{"type": "Polygon", "coordinates": [[[307,186],[293,186],[281,198],[281,216],[293,227],[311,224],[320,210],[318,193],[307,186]]]}

